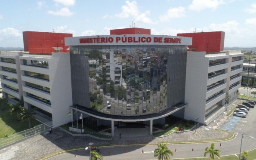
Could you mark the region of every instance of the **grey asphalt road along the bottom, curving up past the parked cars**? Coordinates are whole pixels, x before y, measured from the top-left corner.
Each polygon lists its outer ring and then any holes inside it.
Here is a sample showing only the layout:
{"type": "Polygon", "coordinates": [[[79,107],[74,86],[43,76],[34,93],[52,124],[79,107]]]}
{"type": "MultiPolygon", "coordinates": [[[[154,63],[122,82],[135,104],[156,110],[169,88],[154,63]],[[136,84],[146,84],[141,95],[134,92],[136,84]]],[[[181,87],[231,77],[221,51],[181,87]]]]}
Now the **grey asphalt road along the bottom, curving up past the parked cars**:
{"type": "MultiPolygon", "coordinates": [[[[221,156],[239,154],[241,145],[241,136],[244,134],[242,142],[242,151],[249,151],[256,147],[256,108],[251,108],[250,116],[241,120],[244,120],[244,126],[235,124],[241,129],[232,128],[230,131],[235,132],[236,138],[228,140],[226,142],[215,142],[216,148],[221,151],[221,156]],[[249,138],[253,136],[254,138],[249,138]],[[221,147],[219,146],[221,143],[221,147]]],[[[233,115],[230,115],[226,120],[235,120],[233,115]]],[[[226,123],[224,123],[226,124],[226,123]]],[[[220,125],[219,128],[223,126],[220,125]]],[[[238,128],[238,127],[237,127],[238,128]]],[[[196,132],[195,134],[200,134],[196,132]]],[[[171,140],[170,140],[171,141],[171,140]]],[[[191,157],[204,157],[204,150],[206,147],[210,147],[211,143],[196,143],[196,144],[176,144],[168,145],[168,148],[173,151],[174,156],[172,158],[191,158],[191,157]],[[194,151],[192,151],[194,148],[194,151]],[[177,152],[175,152],[175,149],[177,152]]],[[[86,146],[85,146],[86,147],[86,146]]],[[[102,154],[104,160],[154,160],[154,149],[157,145],[142,145],[142,146],[127,146],[127,147],[111,147],[100,148],[99,154],[102,154]],[[144,153],[142,153],[142,149],[144,153]],[[110,154],[108,154],[110,151],[110,154]],[[125,151],[127,153],[125,153],[125,151]]],[[[59,154],[58,156],[48,158],[47,160],[89,160],[89,150],[73,151],[65,154],[59,154]],[[76,154],[77,157],[74,157],[76,154]]],[[[234,156],[234,159],[236,157],[234,156]]]]}

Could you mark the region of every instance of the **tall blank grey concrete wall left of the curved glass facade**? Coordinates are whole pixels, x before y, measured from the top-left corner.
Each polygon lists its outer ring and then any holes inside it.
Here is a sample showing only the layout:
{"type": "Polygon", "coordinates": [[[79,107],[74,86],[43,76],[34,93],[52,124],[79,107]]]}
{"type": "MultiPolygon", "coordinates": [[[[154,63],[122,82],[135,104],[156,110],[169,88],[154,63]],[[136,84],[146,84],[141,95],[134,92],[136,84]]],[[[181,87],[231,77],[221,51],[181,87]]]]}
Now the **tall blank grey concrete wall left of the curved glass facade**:
{"type": "Polygon", "coordinates": [[[53,126],[71,121],[68,108],[72,105],[70,56],[66,52],[52,53],[49,60],[49,79],[52,97],[53,126]]]}

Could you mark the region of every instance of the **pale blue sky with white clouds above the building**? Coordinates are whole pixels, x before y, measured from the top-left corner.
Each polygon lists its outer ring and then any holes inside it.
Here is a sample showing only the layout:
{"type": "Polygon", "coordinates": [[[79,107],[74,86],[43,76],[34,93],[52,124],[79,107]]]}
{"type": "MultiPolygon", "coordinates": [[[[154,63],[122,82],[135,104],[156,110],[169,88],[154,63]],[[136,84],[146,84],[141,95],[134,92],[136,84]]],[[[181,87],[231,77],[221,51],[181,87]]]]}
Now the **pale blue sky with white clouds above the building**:
{"type": "Polygon", "coordinates": [[[108,35],[224,31],[225,47],[256,47],[255,0],[0,0],[0,47],[23,47],[23,31],[108,35]]]}

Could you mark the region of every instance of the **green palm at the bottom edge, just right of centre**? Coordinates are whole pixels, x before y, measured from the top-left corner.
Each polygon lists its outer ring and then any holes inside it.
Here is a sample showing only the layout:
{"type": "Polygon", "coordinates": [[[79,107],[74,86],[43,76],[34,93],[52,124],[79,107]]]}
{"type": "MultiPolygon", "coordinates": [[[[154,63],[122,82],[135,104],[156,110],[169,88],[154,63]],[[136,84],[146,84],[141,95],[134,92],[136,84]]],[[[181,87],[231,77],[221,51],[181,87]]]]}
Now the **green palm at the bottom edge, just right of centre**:
{"type": "Polygon", "coordinates": [[[157,157],[157,160],[169,160],[170,155],[173,156],[173,152],[166,145],[167,142],[157,144],[158,148],[154,150],[154,157],[157,157]]]}

